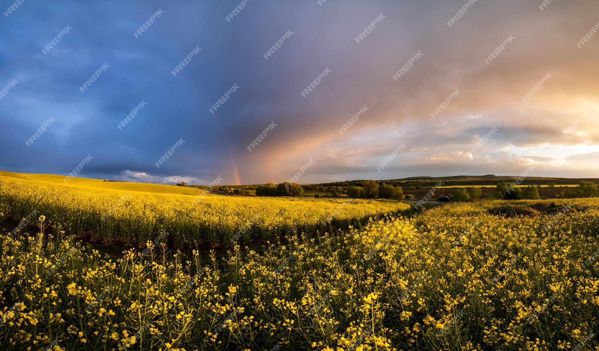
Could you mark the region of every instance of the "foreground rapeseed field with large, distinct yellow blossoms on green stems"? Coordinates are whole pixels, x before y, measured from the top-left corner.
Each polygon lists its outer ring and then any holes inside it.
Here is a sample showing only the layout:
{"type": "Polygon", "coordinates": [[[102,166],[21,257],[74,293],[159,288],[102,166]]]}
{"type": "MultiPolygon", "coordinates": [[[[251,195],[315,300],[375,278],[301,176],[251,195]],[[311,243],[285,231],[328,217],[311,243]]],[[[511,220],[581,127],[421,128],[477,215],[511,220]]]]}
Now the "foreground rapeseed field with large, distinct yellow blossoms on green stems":
{"type": "MultiPolygon", "coordinates": [[[[2,180],[3,195],[17,186],[2,180]]],[[[53,199],[50,190],[59,191],[34,188],[53,199]]],[[[5,199],[3,221],[14,210],[5,199]]],[[[538,202],[450,204],[207,261],[162,245],[111,259],[40,216],[0,234],[0,341],[32,350],[599,349],[589,336],[599,330],[599,199],[538,202]],[[531,217],[492,214],[533,205],[531,217]]]]}

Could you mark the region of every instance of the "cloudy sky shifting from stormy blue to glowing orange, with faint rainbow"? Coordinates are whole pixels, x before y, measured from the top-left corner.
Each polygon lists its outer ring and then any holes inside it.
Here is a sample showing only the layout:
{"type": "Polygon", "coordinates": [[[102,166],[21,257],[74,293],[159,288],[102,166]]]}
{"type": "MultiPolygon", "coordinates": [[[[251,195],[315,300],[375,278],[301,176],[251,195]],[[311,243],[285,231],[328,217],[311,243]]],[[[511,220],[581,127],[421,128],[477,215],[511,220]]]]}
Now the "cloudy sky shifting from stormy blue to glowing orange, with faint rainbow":
{"type": "Polygon", "coordinates": [[[5,2],[0,169],[68,174],[90,155],[80,176],[156,183],[279,183],[310,160],[299,183],[597,177],[597,1],[239,2],[5,2]]]}

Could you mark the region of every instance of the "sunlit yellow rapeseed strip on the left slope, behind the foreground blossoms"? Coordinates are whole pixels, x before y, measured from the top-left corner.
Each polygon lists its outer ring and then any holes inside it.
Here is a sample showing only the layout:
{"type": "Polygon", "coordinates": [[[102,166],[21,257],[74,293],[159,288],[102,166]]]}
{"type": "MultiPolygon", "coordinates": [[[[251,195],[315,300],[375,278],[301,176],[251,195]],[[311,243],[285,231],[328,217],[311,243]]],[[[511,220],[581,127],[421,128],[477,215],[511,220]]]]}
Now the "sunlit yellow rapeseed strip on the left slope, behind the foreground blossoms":
{"type": "Polygon", "coordinates": [[[395,200],[222,196],[177,186],[164,187],[197,192],[159,193],[164,188],[155,185],[120,182],[135,189],[125,191],[0,176],[0,211],[18,220],[37,210],[57,230],[105,244],[145,245],[166,231],[170,246],[196,248],[279,241],[409,208],[395,200]]]}

